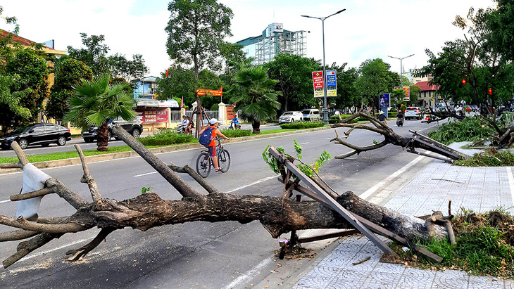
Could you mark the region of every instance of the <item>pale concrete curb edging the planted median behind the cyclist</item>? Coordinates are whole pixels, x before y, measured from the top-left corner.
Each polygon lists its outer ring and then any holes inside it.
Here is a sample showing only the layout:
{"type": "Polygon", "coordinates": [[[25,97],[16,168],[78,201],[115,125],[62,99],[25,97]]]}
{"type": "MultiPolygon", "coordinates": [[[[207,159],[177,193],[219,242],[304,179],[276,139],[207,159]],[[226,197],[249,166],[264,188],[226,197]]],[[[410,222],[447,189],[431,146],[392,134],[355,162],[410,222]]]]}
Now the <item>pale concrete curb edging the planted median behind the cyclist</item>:
{"type": "MultiPolygon", "coordinates": [[[[316,127],[313,129],[301,129],[299,131],[284,131],[277,132],[276,134],[259,134],[256,136],[243,136],[235,139],[230,139],[225,143],[238,143],[241,141],[253,141],[257,139],[267,139],[269,137],[275,136],[287,136],[289,134],[303,134],[305,132],[311,131],[320,131],[325,129],[331,129],[331,127],[316,127]]],[[[194,148],[203,148],[200,143],[186,143],[176,146],[162,146],[160,148],[149,148],[151,153],[169,153],[177,150],[190,150],[194,148]]],[[[100,162],[104,160],[115,160],[119,158],[130,158],[137,156],[138,154],[134,150],[130,150],[122,153],[106,153],[104,155],[89,155],[86,158],[87,162],[100,162]]],[[[45,162],[33,162],[32,165],[35,165],[39,169],[48,169],[51,167],[64,167],[67,165],[80,165],[80,158],[68,158],[63,160],[47,160],[45,162]]],[[[2,173],[10,173],[10,172],[22,172],[23,169],[2,169],[2,173]]]]}

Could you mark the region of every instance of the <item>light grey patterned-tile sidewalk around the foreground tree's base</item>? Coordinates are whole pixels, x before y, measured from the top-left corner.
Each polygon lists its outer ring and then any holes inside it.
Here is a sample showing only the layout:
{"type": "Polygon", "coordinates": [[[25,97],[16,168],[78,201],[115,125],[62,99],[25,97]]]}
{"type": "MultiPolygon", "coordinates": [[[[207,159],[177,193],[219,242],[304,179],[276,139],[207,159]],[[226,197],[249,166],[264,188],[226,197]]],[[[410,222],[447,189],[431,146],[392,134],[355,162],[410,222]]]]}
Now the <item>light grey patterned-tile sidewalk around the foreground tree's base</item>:
{"type": "MultiPolygon", "coordinates": [[[[474,212],[502,207],[514,213],[511,167],[456,167],[436,160],[420,172],[408,173],[418,175],[395,190],[385,207],[415,216],[432,210],[446,214],[451,199],[453,214],[460,207],[474,212]]],[[[512,279],[380,263],[382,252],[365,237],[336,242],[326,257],[313,260],[292,288],[514,288],[512,279]],[[367,262],[353,266],[366,257],[367,262]]]]}

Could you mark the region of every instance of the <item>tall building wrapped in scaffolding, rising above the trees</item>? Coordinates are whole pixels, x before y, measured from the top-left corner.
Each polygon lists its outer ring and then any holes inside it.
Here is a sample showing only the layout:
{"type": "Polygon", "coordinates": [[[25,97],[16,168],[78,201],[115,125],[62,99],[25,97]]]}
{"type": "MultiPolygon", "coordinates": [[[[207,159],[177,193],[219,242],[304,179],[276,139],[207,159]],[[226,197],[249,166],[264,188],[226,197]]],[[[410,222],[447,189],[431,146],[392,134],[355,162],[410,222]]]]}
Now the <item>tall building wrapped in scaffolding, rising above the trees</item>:
{"type": "Polygon", "coordinates": [[[275,59],[280,53],[306,56],[307,31],[284,30],[282,23],[272,23],[257,37],[248,37],[235,44],[243,46],[246,57],[253,57],[253,63],[262,65],[275,59]]]}

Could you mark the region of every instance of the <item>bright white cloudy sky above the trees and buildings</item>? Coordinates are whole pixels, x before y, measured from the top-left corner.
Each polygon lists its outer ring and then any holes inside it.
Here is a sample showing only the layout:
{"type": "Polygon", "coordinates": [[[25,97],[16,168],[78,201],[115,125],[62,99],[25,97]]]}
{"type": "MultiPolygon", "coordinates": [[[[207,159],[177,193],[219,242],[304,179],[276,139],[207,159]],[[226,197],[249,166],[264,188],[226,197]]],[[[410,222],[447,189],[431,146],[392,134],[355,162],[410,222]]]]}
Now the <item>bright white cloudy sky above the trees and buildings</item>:
{"type": "MultiPolygon", "coordinates": [[[[56,49],[79,48],[80,33],[104,34],[109,53],[131,58],[142,54],[149,75],[158,76],[172,63],[166,54],[164,32],[170,13],[165,0],[15,0],[4,1],[3,16],[15,16],[20,36],[32,41],[55,40],[56,49]],[[51,4],[50,4],[51,3],[51,4]]],[[[427,63],[425,49],[440,51],[444,41],[463,37],[451,25],[456,15],[465,16],[471,6],[487,8],[491,0],[356,0],[356,1],[262,1],[222,0],[232,8],[235,42],[257,36],[271,23],[284,29],[307,30],[307,56],[322,58],[320,20],[300,15],[324,17],[346,8],[325,20],[326,63],[348,63],[358,67],[364,60],[382,58],[399,72],[403,67],[420,68],[427,63]]],[[[12,30],[5,23],[2,29],[12,30]]]]}

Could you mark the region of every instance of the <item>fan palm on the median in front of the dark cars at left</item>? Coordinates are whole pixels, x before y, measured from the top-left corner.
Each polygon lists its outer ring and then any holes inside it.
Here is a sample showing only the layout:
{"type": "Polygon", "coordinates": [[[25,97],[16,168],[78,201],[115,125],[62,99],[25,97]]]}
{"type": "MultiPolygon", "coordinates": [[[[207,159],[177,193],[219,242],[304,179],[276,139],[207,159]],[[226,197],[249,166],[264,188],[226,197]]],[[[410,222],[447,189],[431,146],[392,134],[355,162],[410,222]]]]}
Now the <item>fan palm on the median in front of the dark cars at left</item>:
{"type": "Polygon", "coordinates": [[[96,126],[96,150],[106,151],[108,146],[109,119],[122,117],[123,120],[133,120],[134,98],[127,92],[126,83],[111,83],[111,76],[100,75],[93,80],[84,80],[73,87],[70,97],[70,110],[65,115],[64,122],[73,122],[76,127],[87,129],[96,126]]]}

